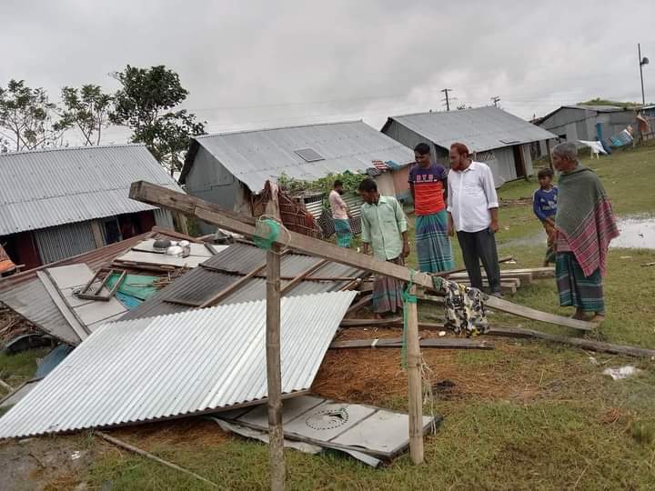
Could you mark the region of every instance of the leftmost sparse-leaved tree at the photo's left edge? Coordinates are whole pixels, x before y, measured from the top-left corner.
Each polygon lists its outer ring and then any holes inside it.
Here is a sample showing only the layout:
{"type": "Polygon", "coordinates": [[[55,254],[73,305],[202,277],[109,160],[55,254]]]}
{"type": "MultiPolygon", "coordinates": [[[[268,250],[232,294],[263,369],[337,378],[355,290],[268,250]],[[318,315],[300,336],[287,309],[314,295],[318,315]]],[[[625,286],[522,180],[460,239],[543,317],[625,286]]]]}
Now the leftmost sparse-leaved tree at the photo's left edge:
{"type": "Polygon", "coordinates": [[[55,120],[57,110],[43,88],[30,88],[25,80],[10,80],[0,87],[0,146],[22,152],[62,145],[67,125],[55,120]]]}

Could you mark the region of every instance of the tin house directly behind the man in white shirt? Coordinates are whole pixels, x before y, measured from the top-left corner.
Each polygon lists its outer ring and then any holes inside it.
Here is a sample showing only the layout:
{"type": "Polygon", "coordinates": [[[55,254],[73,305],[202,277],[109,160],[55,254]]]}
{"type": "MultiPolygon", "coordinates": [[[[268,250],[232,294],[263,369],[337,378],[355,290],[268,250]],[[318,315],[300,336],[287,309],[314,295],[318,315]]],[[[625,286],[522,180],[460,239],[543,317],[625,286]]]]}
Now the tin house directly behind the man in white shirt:
{"type": "Polygon", "coordinates": [[[425,142],[446,165],[450,145],[461,142],[491,167],[497,186],[532,175],[529,145],[555,137],[494,106],[391,116],[382,133],[410,148],[425,142]]]}

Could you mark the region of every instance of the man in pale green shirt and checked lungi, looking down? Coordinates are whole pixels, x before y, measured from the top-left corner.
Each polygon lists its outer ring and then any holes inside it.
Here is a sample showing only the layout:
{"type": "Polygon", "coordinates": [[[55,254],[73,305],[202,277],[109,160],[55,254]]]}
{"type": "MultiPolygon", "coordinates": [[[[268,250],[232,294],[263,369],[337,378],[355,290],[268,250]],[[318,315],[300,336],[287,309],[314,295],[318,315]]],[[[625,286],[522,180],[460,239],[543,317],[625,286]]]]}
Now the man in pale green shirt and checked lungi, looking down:
{"type": "MultiPolygon", "coordinates": [[[[380,196],[373,179],[359,185],[364,200],[361,207],[362,243],[364,254],[373,249],[381,261],[404,265],[409,256],[407,216],[395,197],[380,196]]],[[[402,309],[403,282],[388,276],[376,276],[373,282],[373,309],[376,314],[396,313],[402,309]]]]}

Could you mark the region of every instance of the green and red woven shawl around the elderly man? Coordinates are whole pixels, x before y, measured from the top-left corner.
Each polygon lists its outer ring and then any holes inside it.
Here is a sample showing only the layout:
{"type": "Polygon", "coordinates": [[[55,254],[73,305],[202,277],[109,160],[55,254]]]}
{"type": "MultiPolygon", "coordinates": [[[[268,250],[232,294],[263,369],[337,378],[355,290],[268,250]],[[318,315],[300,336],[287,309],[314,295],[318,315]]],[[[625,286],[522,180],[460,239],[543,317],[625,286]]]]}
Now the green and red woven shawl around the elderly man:
{"type": "Polygon", "coordinates": [[[555,227],[569,245],[585,276],[605,274],[610,240],[619,236],[610,200],[591,169],[578,165],[559,176],[555,227]]]}

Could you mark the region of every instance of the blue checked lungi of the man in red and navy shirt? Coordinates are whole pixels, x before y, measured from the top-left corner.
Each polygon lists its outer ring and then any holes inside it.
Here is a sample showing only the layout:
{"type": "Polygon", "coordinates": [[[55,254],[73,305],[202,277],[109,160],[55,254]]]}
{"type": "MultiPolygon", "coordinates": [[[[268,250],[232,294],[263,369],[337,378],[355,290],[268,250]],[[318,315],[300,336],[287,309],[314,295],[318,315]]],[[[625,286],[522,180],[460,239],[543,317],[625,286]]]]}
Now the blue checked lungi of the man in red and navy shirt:
{"type": "Polygon", "coordinates": [[[416,218],[418,269],[424,273],[438,273],[455,269],[446,210],[416,218]]]}

